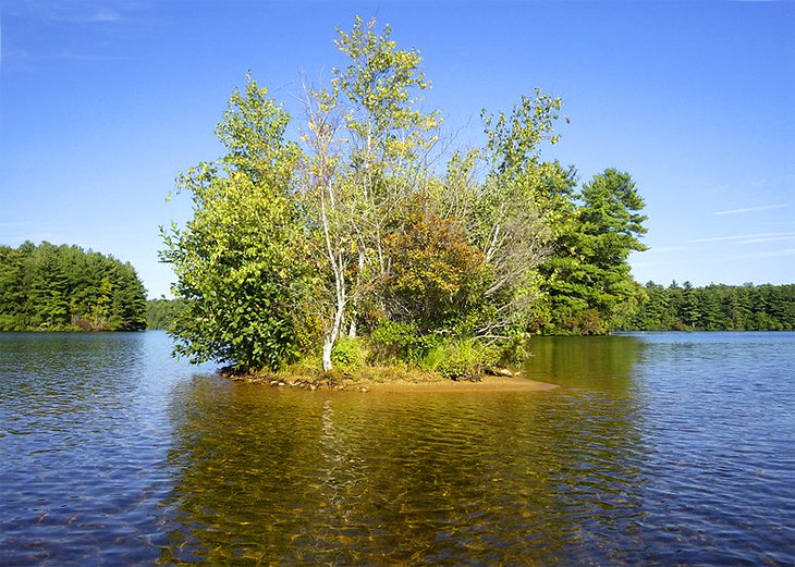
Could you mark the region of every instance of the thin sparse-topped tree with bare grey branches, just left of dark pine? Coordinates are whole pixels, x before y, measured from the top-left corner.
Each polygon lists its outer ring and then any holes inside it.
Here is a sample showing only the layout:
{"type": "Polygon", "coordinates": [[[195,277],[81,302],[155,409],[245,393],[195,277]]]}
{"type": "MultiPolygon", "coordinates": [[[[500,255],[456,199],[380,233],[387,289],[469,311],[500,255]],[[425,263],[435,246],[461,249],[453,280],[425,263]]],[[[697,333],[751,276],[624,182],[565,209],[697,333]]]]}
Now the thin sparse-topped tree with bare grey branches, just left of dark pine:
{"type": "Polygon", "coordinates": [[[494,273],[487,291],[493,317],[481,330],[487,336],[527,326],[540,298],[537,269],[549,256],[553,204],[567,189],[566,174],[559,163],[540,159],[540,147],[558,143],[553,132],[561,106],[559,98],[536,89],[510,114],[484,112],[488,173],[470,217],[473,242],[494,273]]]}

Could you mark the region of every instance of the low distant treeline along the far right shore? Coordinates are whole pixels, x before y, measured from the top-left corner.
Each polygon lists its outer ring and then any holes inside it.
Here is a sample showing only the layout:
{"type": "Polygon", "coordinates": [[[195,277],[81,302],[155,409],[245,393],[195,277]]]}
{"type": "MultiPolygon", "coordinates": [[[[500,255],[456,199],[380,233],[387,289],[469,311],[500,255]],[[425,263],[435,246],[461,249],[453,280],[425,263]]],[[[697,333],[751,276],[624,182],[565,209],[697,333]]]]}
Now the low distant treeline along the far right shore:
{"type": "Polygon", "coordinates": [[[645,286],[648,299],[627,331],[794,331],[795,284],[645,286]]]}

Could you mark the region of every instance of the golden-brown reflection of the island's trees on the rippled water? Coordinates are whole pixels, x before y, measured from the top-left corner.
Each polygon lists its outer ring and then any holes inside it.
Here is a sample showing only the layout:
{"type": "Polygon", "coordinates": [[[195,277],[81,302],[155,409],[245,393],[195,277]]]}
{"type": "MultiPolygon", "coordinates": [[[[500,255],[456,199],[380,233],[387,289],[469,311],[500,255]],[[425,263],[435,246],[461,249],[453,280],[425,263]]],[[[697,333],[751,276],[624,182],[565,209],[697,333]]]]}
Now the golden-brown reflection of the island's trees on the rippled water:
{"type": "Polygon", "coordinates": [[[624,409],[560,391],[362,395],[195,380],[171,404],[178,476],[161,560],[631,560],[644,443],[624,409]]]}

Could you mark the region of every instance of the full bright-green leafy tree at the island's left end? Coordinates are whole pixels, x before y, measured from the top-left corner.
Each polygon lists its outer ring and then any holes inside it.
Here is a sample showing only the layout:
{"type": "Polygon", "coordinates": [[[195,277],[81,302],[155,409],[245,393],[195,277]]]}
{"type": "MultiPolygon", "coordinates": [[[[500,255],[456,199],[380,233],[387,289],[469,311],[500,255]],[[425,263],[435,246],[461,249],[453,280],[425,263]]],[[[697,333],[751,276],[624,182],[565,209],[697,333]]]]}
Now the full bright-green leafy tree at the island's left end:
{"type": "Polygon", "coordinates": [[[277,369],[295,354],[305,247],[289,121],[249,78],[217,128],[227,155],[179,178],[194,217],[163,231],[161,258],[174,267],[174,292],[185,300],[172,330],[175,352],[193,361],[277,369]]]}

